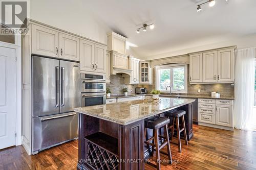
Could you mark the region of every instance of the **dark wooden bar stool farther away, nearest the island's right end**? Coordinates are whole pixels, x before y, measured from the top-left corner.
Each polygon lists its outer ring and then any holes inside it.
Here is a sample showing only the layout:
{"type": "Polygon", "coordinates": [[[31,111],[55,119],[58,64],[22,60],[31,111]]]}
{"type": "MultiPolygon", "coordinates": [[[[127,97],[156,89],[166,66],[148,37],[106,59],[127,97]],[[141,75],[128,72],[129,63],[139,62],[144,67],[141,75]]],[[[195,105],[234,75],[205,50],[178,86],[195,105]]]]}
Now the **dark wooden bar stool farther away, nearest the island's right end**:
{"type": "Polygon", "coordinates": [[[185,137],[185,143],[187,143],[187,133],[186,133],[186,127],[185,127],[185,120],[184,120],[184,115],[186,114],[186,111],[184,110],[170,110],[168,112],[165,112],[165,116],[168,118],[173,118],[173,124],[168,127],[168,129],[172,130],[172,140],[174,136],[174,130],[177,131],[177,137],[178,137],[178,146],[179,146],[179,152],[181,153],[181,141],[180,141],[180,133],[184,131],[184,137],[185,137]],[[181,117],[182,120],[182,129],[180,129],[180,123],[179,123],[179,118],[181,117]],[[176,128],[175,128],[175,122],[176,122],[176,128]]]}

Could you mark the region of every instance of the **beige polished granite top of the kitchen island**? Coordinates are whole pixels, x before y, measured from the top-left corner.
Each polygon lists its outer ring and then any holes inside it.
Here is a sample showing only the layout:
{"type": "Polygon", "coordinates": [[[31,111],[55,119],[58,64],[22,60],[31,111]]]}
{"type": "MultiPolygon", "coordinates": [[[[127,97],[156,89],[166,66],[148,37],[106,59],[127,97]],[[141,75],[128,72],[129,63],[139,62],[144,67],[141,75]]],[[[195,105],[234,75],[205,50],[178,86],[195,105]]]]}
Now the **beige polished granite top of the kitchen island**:
{"type": "Polygon", "coordinates": [[[139,120],[195,102],[194,99],[159,98],[161,102],[136,100],[106,105],[75,108],[74,111],[120,125],[129,125],[139,120]]]}

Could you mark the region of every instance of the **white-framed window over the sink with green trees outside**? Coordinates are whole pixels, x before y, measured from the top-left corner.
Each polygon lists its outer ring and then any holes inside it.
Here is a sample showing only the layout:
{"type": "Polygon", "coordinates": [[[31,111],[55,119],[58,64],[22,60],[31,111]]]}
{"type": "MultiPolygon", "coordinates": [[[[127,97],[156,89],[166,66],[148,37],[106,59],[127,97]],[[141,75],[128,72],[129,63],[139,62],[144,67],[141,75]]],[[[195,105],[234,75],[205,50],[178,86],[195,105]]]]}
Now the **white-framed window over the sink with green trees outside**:
{"type": "Polygon", "coordinates": [[[169,64],[156,67],[156,88],[162,92],[167,86],[172,87],[173,93],[187,93],[187,65],[169,64]]]}

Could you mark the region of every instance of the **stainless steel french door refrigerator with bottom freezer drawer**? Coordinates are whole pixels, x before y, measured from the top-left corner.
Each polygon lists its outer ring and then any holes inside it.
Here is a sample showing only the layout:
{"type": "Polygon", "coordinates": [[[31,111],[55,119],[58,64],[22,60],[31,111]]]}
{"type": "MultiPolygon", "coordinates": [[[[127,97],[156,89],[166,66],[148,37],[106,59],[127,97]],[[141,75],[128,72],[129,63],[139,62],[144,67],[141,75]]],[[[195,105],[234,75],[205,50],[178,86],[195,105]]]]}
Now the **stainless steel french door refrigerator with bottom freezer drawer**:
{"type": "Polygon", "coordinates": [[[78,137],[80,65],[32,56],[32,154],[78,137]]]}

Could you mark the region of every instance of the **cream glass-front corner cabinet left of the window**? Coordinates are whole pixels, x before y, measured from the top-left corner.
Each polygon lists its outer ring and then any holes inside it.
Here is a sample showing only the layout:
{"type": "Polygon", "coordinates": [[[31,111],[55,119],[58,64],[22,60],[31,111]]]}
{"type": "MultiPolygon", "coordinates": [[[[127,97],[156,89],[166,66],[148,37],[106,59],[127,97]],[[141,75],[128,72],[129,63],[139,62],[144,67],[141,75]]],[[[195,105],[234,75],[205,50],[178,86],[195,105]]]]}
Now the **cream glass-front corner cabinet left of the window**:
{"type": "Polygon", "coordinates": [[[140,61],[140,84],[152,84],[152,73],[150,62],[140,61]]]}

